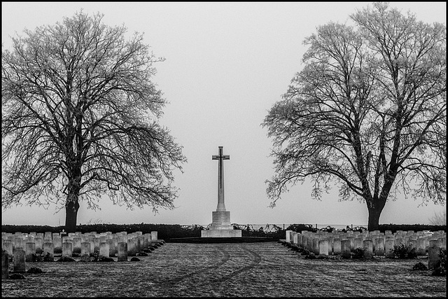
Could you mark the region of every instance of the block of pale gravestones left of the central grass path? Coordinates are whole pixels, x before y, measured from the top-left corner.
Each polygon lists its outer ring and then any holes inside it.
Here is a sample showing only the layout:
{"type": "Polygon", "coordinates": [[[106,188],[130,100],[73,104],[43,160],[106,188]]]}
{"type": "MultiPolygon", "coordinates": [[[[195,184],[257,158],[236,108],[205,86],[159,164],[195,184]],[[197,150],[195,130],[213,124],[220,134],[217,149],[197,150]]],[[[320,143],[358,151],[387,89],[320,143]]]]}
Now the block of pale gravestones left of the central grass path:
{"type": "Polygon", "coordinates": [[[9,261],[12,258],[14,272],[25,272],[25,263],[36,261],[36,256],[43,256],[44,261],[54,261],[59,255],[62,258],[78,256],[80,261],[92,260],[92,253],[97,254],[94,260],[102,260],[117,256],[118,261],[127,260],[128,256],[136,256],[142,251],[152,251],[165,244],[158,239],[158,233],[151,232],[90,232],[70,233],[61,236],[59,233],[29,234],[16,232],[15,234],[2,232],[2,279],[8,278],[9,261]],[[41,238],[43,237],[43,239],[41,238]],[[24,249],[25,244],[25,249],[24,249]]]}

